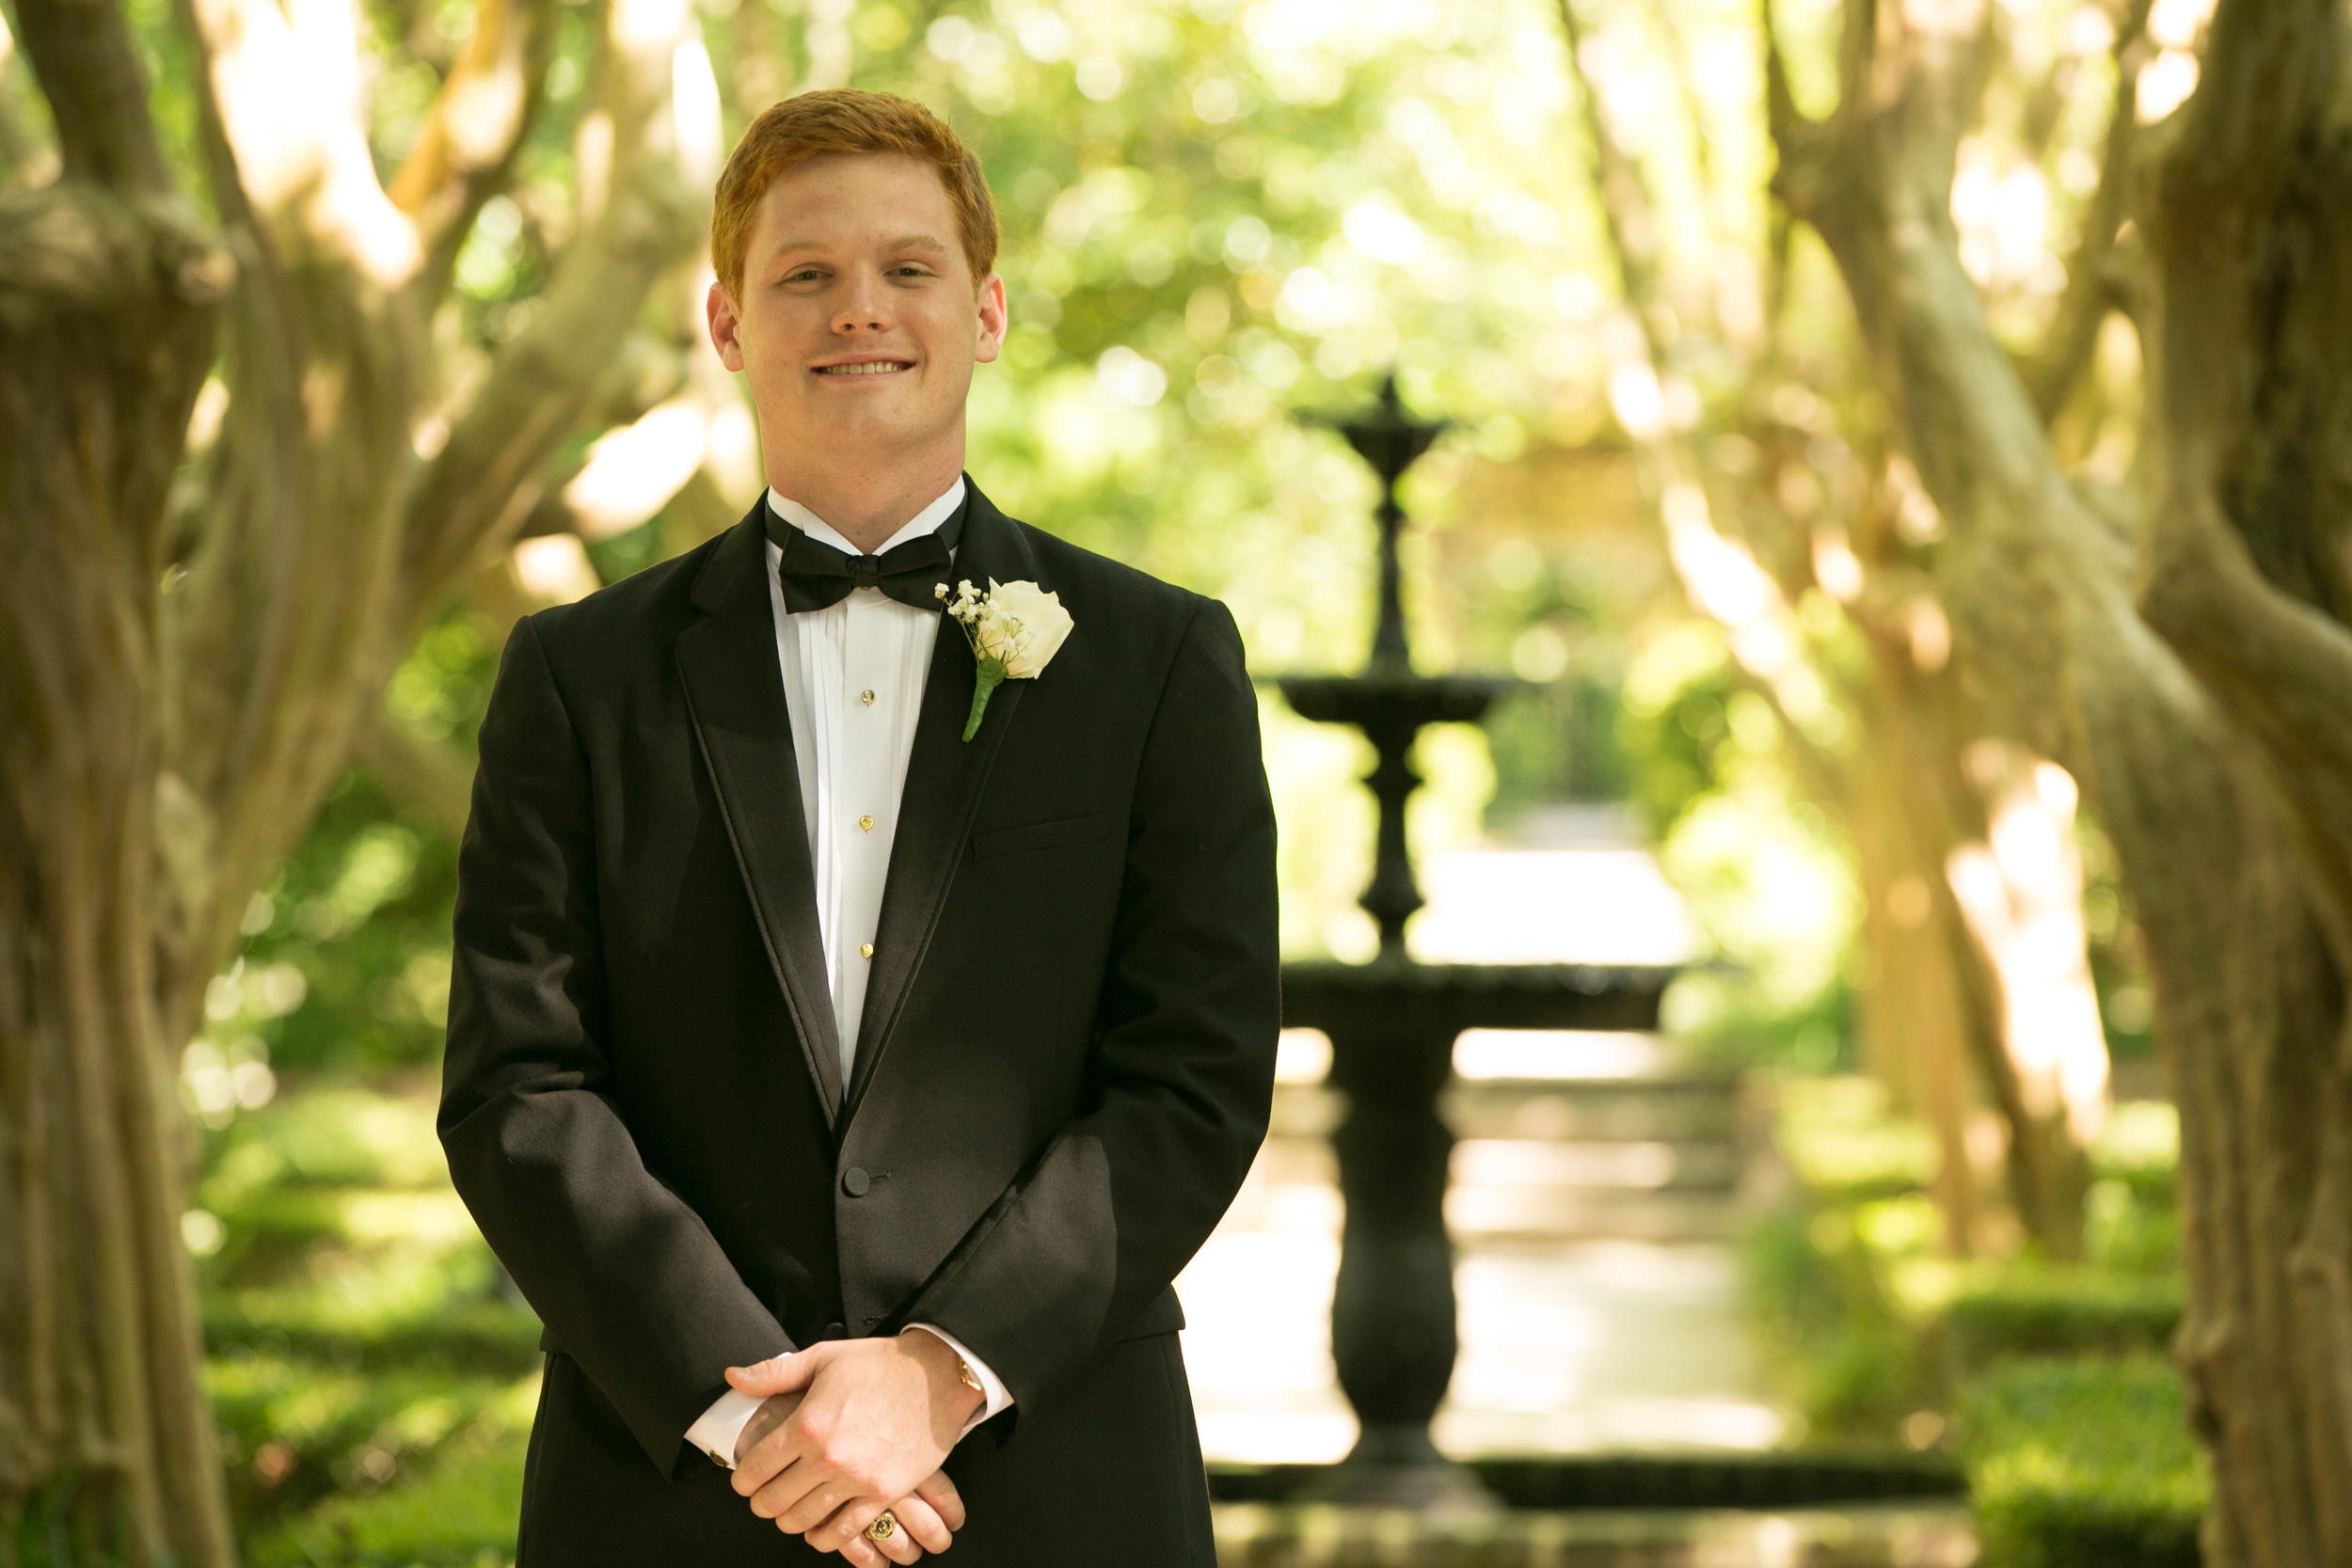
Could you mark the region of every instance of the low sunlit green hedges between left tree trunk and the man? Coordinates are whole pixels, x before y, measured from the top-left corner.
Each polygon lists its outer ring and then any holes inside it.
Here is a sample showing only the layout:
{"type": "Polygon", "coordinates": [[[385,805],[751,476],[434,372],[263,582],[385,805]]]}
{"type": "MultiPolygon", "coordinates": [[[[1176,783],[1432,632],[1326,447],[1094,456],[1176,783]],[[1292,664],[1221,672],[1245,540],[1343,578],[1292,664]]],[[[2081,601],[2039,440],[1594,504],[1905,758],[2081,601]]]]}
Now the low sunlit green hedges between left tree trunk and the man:
{"type": "Polygon", "coordinates": [[[315,1086],[209,1143],[188,1237],[245,1535],[520,1441],[539,1321],[449,1190],[428,1084],[315,1086]]]}

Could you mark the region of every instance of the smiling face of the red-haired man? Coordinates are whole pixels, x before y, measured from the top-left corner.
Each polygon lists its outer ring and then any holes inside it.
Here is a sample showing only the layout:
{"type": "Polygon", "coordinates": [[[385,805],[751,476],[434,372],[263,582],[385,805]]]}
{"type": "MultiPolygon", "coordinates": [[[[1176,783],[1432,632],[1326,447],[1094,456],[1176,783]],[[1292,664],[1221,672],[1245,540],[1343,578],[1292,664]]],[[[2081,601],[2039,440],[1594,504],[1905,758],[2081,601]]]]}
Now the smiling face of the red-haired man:
{"type": "Polygon", "coordinates": [[[1004,282],[974,282],[946,183],[896,153],[776,179],[741,296],[710,284],[708,310],[720,360],[750,381],[771,482],[811,456],[960,468],[971,367],[1004,343],[1004,282]]]}

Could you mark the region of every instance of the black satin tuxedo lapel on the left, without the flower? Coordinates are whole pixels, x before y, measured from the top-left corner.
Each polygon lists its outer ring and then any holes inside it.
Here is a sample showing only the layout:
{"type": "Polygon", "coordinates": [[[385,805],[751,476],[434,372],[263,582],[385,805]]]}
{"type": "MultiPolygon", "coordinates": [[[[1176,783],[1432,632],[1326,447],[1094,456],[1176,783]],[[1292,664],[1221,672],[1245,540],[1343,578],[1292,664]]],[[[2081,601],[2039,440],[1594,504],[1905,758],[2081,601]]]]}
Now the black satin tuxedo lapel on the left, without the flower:
{"type": "MultiPolygon", "coordinates": [[[[764,505],[764,501],[762,501],[764,505]]],[[[767,597],[767,538],[760,510],[713,550],[694,583],[703,618],[677,635],[677,672],[703,762],[717,785],[727,837],[760,917],[767,959],[793,1013],[800,1053],[840,1121],[840,1037],[826,985],[826,940],[816,924],[816,870],[800,811],[793,719],[776,663],[776,614],[767,597]]]]}

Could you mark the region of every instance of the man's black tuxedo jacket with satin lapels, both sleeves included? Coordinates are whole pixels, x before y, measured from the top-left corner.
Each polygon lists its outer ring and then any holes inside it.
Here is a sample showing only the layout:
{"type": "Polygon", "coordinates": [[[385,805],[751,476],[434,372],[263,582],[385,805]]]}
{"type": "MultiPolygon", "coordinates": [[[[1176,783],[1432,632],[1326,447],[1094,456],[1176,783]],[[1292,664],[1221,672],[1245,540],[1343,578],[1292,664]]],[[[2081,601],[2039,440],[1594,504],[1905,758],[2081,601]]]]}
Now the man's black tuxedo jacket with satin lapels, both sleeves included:
{"type": "Polygon", "coordinates": [[[546,1324],[527,1566],[797,1561],[684,1432],[727,1366],[908,1321],[1016,1399],[950,1462],[957,1561],[1063,1561],[1087,1490],[1115,1561],[1209,1561],[1169,1281],[1265,1133],[1279,1023],[1242,644],[978,489],[955,576],[1075,630],[964,743],[941,628],[847,1084],[760,510],[506,646],[440,1135],[546,1324]],[[1138,1507],[1174,1544],[1129,1549],[1138,1507]]]}

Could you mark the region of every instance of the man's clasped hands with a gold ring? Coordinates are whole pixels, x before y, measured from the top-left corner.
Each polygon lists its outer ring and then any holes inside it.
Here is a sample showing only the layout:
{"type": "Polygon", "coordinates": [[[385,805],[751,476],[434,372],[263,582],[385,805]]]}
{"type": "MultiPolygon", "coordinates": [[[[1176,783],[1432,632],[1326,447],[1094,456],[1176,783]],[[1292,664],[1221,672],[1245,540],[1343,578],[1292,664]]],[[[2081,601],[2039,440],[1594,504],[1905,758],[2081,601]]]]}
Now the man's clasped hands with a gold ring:
{"type": "Polygon", "coordinates": [[[727,1382],[762,1396],[736,1436],[734,1488],[779,1530],[854,1568],[882,1568],[946,1552],[964,1528],[964,1500],[938,1467],[981,1396],[938,1335],[826,1340],[729,1366],[727,1382]],[[898,1528],[877,1542],[866,1526],[882,1509],[898,1528]]]}

